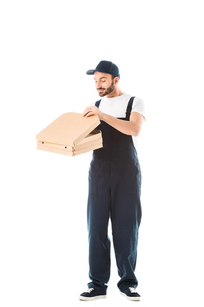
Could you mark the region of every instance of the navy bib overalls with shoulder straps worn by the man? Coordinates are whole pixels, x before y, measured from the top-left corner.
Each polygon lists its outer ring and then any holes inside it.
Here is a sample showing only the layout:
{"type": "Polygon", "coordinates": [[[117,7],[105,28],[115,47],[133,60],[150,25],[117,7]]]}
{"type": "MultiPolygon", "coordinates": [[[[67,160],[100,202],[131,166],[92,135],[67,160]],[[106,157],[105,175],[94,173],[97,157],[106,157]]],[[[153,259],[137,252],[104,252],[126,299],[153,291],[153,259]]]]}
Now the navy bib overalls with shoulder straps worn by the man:
{"type": "MultiPolygon", "coordinates": [[[[134,97],[127,104],[126,117],[130,120],[134,97]]],[[[96,101],[98,107],[100,100],[96,101]]],[[[124,291],[136,288],[134,274],[137,259],[138,229],[142,209],[141,169],[131,135],[121,133],[101,120],[103,147],[93,150],[89,168],[87,226],[89,242],[88,288],[106,294],[110,279],[111,242],[108,236],[111,218],[113,246],[120,280],[117,287],[124,291]]]]}

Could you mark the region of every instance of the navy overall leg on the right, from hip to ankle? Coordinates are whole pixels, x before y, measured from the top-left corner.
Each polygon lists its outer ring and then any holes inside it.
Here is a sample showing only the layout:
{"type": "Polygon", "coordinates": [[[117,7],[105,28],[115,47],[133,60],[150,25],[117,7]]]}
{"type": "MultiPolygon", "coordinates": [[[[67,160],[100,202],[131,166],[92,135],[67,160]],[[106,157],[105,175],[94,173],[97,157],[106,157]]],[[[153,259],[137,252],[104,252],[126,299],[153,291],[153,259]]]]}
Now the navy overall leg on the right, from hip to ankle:
{"type": "Polygon", "coordinates": [[[141,171],[136,159],[120,161],[118,171],[113,168],[111,182],[111,223],[118,275],[117,286],[124,291],[136,288],[135,276],[138,229],[141,222],[141,171]]]}

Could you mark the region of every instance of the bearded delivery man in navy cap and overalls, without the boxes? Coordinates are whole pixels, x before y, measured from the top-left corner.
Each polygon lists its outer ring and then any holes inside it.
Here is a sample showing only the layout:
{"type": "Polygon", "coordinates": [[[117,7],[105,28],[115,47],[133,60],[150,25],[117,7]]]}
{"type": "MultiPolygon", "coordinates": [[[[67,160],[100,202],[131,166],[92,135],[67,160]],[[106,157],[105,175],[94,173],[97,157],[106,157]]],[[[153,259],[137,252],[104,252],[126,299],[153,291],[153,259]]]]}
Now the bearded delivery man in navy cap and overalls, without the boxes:
{"type": "Polygon", "coordinates": [[[146,120],[143,100],[123,93],[119,87],[119,69],[111,61],[100,61],[95,70],[95,86],[100,100],[84,110],[83,116],[98,115],[103,147],[93,150],[89,168],[87,225],[89,239],[88,290],[81,300],[106,298],[110,278],[111,218],[113,245],[120,294],[140,300],[134,274],[138,229],[141,222],[141,170],[135,148],[136,138],[146,120]]]}

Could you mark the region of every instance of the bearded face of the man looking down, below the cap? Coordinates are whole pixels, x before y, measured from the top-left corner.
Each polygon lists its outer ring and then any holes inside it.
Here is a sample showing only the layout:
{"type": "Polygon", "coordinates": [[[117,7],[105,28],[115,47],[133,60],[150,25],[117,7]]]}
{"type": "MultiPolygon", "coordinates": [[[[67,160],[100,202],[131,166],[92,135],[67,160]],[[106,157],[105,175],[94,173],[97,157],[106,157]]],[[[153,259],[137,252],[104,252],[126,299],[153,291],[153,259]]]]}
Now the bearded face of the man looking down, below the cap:
{"type": "Polygon", "coordinates": [[[110,74],[94,72],[95,86],[100,97],[104,97],[115,89],[114,82],[110,74]],[[103,91],[99,91],[103,90],[103,91]]]}

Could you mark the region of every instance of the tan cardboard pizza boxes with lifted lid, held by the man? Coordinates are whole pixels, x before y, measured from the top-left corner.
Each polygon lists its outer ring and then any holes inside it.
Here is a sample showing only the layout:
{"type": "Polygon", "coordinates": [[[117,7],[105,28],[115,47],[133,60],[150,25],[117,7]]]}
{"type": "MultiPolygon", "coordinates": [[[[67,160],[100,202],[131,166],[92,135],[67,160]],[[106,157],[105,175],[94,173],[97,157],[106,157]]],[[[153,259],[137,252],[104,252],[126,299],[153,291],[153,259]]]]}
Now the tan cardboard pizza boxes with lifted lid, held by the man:
{"type": "Polygon", "coordinates": [[[103,147],[97,115],[88,117],[82,113],[64,113],[36,135],[37,149],[77,156],[103,147]]]}

